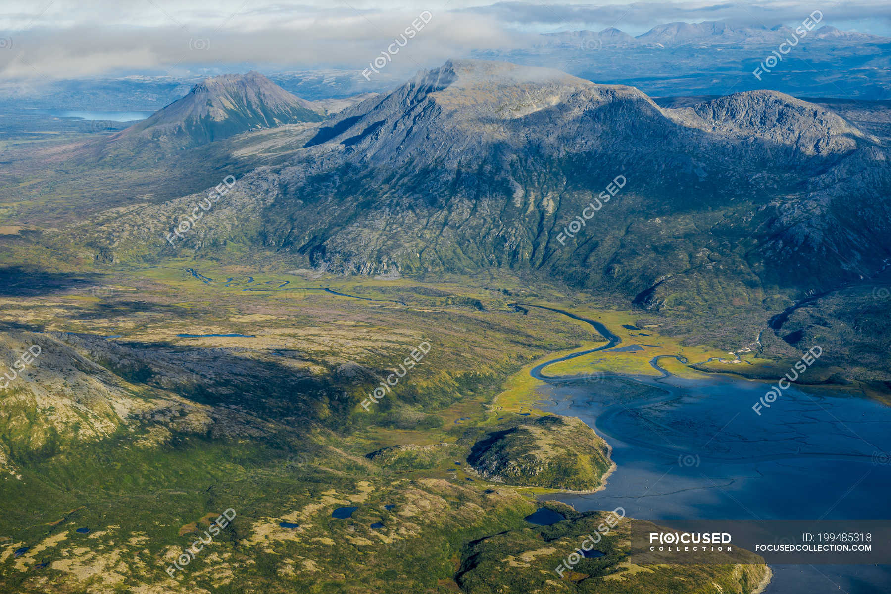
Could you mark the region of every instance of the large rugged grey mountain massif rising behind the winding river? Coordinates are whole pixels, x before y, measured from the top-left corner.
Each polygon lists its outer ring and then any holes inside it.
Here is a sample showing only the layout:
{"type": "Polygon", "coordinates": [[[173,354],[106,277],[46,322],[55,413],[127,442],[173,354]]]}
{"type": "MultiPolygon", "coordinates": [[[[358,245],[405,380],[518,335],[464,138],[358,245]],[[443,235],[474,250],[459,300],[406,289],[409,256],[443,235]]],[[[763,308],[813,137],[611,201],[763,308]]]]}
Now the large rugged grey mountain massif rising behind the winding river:
{"type": "MultiPolygon", "coordinates": [[[[634,87],[449,61],[339,113],[306,147],[240,180],[190,248],[237,239],[346,273],[524,268],[727,314],[891,256],[882,141],[783,94],[667,110],[634,87]]],[[[159,215],[90,233],[113,257],[143,257],[176,224],[159,215]]]]}

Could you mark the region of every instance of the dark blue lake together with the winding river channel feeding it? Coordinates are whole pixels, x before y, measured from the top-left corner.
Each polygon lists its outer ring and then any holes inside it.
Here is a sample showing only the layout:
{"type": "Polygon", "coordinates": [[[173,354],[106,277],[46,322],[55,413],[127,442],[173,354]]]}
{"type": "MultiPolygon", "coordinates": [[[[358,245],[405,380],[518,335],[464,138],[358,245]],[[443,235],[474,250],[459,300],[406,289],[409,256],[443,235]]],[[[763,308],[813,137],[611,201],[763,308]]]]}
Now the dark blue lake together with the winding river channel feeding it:
{"type": "MultiPolygon", "coordinates": [[[[602,491],[547,499],[583,511],[621,506],[630,517],[666,525],[673,519],[891,518],[886,406],[793,385],[759,416],[752,405],[770,388],[766,382],[723,374],[678,378],[659,366],[666,355],[650,359],[660,376],[549,376],[549,365],[616,349],[622,339],[600,321],[573,313],[511,307],[587,322],[608,341],[530,371],[546,383],[540,389],[544,408],[594,427],[617,464],[602,491]]],[[[769,594],[891,592],[889,566],[772,569],[769,594]]]]}

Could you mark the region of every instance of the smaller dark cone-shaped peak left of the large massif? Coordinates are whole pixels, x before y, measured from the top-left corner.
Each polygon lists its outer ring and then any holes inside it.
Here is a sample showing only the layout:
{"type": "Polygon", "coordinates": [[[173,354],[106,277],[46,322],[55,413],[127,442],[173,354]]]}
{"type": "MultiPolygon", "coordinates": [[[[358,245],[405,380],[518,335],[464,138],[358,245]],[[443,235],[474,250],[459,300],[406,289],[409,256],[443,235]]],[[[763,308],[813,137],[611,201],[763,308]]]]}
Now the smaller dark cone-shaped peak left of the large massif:
{"type": "Polygon", "coordinates": [[[226,74],[194,85],[179,101],[111,139],[143,136],[202,144],[254,128],[321,121],[322,111],[259,72],[226,74]]]}

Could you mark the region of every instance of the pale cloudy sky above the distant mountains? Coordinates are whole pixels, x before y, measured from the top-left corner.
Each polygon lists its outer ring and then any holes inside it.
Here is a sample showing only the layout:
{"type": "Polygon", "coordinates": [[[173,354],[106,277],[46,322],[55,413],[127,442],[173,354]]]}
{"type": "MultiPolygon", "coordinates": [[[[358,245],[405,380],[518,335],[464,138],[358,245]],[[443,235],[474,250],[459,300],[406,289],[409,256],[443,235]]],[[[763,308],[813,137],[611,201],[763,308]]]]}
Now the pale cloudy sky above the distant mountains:
{"type": "Polygon", "coordinates": [[[525,45],[539,33],[616,27],[632,35],[675,20],[795,26],[815,9],[822,24],[891,36],[887,0],[813,3],[643,1],[635,4],[396,0],[2,0],[0,77],[53,79],[215,69],[363,69],[428,11],[429,24],[399,57],[419,69],[472,49],[525,45]]]}

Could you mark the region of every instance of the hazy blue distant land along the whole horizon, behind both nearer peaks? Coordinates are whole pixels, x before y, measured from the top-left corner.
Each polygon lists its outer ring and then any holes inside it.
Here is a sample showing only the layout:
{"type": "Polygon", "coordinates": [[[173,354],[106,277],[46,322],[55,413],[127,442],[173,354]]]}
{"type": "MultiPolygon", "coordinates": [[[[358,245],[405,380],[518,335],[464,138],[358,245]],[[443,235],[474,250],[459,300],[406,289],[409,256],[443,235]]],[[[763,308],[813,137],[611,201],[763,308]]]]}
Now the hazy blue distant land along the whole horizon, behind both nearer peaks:
{"type": "MultiPolygon", "coordinates": [[[[806,17],[803,14],[802,20],[806,17]]],[[[793,33],[794,28],[780,24],[673,22],[636,37],[615,27],[548,33],[527,37],[528,41],[510,48],[469,47],[460,57],[557,68],[594,82],[635,85],[655,96],[769,88],[797,96],[891,99],[891,41],[829,25],[818,25],[802,37],[777,76],[760,81],[751,77],[752,70],[784,40],[794,41],[793,33]]],[[[371,80],[362,76],[357,65],[316,66],[270,77],[290,93],[322,101],[392,90],[406,76],[398,66],[382,70],[371,80]]],[[[415,68],[413,62],[411,68],[415,68]]],[[[31,88],[27,96],[20,94],[18,85],[0,83],[0,107],[23,113],[27,110],[22,108],[35,107],[158,110],[201,80],[168,76],[74,79],[31,88]]]]}

